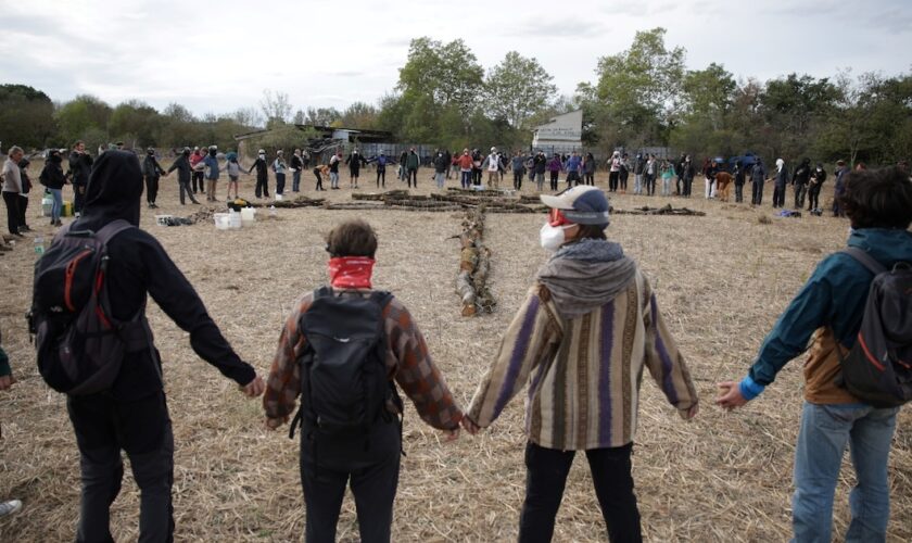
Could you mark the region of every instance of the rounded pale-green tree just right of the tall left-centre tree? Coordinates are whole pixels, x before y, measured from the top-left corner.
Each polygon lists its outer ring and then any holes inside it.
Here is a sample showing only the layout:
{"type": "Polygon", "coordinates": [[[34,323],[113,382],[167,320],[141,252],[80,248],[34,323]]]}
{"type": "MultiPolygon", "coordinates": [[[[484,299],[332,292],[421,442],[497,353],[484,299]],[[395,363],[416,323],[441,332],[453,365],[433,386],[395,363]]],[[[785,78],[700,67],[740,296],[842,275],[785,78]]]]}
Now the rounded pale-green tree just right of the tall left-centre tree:
{"type": "Polygon", "coordinates": [[[530,117],[547,109],[557,94],[553,80],[537,60],[510,51],[487,72],[485,111],[490,116],[505,119],[512,128],[528,128],[530,117]]]}

